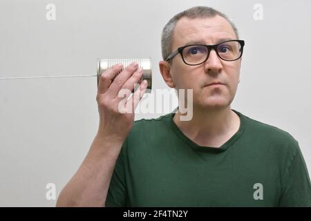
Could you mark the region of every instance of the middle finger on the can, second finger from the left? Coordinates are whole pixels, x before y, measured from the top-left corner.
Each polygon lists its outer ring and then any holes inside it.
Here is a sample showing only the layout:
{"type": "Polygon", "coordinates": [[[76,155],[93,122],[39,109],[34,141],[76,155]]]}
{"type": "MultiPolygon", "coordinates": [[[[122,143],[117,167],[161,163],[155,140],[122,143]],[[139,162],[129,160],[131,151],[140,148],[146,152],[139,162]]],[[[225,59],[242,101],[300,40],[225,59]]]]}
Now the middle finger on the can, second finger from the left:
{"type": "Polygon", "coordinates": [[[107,93],[111,95],[111,97],[116,97],[119,93],[119,90],[122,88],[123,84],[133,75],[135,70],[138,68],[138,63],[133,62],[120,73],[120,75],[117,75],[113,82],[111,83],[111,86],[107,90],[107,93]]]}

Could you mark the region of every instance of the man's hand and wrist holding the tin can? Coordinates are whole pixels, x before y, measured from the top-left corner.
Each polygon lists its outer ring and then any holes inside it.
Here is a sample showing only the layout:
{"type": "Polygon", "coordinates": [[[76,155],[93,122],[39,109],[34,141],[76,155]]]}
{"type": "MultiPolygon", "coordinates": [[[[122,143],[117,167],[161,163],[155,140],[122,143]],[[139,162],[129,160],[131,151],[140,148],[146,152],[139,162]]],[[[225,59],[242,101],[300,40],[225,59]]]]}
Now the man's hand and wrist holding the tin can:
{"type": "Polygon", "coordinates": [[[138,84],[142,78],[143,70],[138,68],[135,62],[117,75],[120,70],[122,70],[122,64],[112,66],[100,77],[96,97],[100,113],[97,135],[104,135],[109,140],[124,141],[133,126],[134,111],[146,91],[147,81],[142,81],[133,96],[126,100],[131,95],[134,84],[138,84]],[[111,81],[111,79],[114,80],[111,81]]]}

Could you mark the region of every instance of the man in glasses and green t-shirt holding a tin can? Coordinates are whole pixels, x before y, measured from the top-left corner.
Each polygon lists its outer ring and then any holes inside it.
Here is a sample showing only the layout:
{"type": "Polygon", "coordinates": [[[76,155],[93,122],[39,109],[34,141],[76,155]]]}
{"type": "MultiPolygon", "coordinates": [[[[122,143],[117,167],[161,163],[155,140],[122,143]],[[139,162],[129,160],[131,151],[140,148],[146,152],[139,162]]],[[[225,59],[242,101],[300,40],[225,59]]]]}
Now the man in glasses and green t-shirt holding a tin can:
{"type": "MultiPolygon", "coordinates": [[[[164,27],[160,72],[169,87],[193,91],[189,121],[178,109],[133,123],[133,113],[117,111],[117,93],[131,91],[142,70],[131,64],[113,82],[121,66],[107,70],[98,133],[57,206],[311,206],[298,142],[230,108],[243,46],[212,8],[190,8],[164,27]]],[[[133,110],[146,86],[129,99],[133,110]]]]}

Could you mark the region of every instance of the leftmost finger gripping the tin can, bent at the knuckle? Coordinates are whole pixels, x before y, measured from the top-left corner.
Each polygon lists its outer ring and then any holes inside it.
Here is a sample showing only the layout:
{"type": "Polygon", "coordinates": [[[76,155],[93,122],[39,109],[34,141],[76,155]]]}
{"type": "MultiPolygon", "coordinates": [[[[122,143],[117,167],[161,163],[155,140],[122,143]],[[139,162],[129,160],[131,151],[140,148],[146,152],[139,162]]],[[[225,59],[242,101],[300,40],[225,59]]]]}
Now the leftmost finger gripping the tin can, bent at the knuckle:
{"type": "Polygon", "coordinates": [[[109,86],[111,86],[111,79],[115,78],[120,70],[122,70],[122,64],[116,64],[108,70],[105,70],[100,76],[97,93],[105,93],[108,90],[109,86]]]}

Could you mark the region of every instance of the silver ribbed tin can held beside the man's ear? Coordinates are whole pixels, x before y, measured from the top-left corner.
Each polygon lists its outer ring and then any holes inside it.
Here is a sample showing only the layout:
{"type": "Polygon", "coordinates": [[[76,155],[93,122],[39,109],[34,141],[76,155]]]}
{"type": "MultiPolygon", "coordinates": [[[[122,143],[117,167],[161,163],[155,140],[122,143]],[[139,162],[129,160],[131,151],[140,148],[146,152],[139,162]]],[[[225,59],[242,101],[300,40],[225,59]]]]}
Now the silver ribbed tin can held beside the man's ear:
{"type": "MultiPolygon", "coordinates": [[[[97,61],[97,87],[98,83],[100,81],[100,76],[102,73],[111,68],[111,66],[114,66],[115,64],[123,64],[122,70],[126,68],[126,66],[129,66],[132,62],[137,62],[139,67],[142,67],[143,73],[142,73],[142,80],[146,79],[148,82],[146,93],[151,92],[151,85],[152,85],[152,69],[151,69],[151,58],[141,58],[141,59],[98,59],[97,61]]],[[[120,73],[122,72],[120,70],[120,73]]],[[[117,73],[119,75],[120,73],[117,73]]],[[[113,80],[113,79],[112,79],[113,80]]],[[[142,81],[141,80],[141,81],[142,81]]]]}

